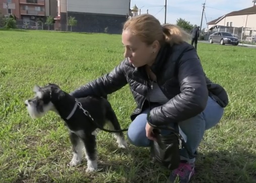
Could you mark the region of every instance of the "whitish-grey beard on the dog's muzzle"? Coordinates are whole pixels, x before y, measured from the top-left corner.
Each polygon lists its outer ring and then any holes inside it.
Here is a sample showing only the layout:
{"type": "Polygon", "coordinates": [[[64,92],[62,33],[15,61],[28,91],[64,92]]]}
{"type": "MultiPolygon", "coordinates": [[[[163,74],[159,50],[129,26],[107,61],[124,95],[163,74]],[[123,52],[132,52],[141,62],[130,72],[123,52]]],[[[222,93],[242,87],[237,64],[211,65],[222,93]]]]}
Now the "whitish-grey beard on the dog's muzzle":
{"type": "Polygon", "coordinates": [[[49,102],[47,105],[41,106],[42,107],[42,112],[39,112],[37,107],[33,105],[33,103],[29,103],[28,101],[25,101],[27,104],[27,110],[31,118],[40,118],[43,117],[48,111],[55,111],[54,105],[49,102]]]}

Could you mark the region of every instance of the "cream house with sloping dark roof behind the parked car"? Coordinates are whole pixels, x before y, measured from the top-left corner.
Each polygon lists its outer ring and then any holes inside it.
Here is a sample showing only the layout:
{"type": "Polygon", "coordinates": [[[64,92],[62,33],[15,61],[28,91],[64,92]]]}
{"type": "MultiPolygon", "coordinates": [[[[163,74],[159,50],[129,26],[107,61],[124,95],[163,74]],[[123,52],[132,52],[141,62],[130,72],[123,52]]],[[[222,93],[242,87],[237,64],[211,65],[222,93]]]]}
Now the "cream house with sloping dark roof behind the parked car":
{"type": "Polygon", "coordinates": [[[215,27],[243,27],[243,34],[245,36],[253,34],[253,32],[256,31],[256,0],[252,1],[252,3],[252,7],[231,12],[211,22],[208,22],[208,30],[211,30],[215,27]]]}

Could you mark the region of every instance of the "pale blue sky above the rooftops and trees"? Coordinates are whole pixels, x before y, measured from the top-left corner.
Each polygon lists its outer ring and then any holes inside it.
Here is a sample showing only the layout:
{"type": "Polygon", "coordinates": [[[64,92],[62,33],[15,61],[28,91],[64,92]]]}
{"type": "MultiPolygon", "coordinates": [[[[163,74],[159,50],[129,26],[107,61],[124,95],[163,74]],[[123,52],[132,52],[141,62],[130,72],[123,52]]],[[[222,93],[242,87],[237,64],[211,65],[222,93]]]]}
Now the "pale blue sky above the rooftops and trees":
{"type": "MultiPolygon", "coordinates": [[[[176,24],[179,18],[185,19],[191,24],[200,26],[203,5],[206,2],[205,16],[202,29],[207,28],[207,22],[233,11],[242,10],[253,6],[252,0],[167,0],[166,23],[176,24]],[[232,3],[231,3],[232,2],[232,3]]],[[[141,14],[155,16],[161,24],[165,17],[165,0],[131,0],[131,8],[134,5],[141,9],[141,14]]]]}

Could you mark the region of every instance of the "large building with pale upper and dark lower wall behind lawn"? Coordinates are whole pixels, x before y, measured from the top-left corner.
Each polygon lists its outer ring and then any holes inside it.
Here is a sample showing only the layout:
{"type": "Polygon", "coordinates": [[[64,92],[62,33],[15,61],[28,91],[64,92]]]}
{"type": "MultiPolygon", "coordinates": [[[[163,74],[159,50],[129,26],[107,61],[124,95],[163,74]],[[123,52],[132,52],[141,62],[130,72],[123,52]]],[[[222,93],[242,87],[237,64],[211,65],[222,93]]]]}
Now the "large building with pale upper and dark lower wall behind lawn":
{"type": "Polygon", "coordinates": [[[60,30],[70,30],[68,17],[75,17],[74,32],[120,34],[122,25],[130,13],[130,0],[58,0],[58,16],[55,18],[60,30]]]}

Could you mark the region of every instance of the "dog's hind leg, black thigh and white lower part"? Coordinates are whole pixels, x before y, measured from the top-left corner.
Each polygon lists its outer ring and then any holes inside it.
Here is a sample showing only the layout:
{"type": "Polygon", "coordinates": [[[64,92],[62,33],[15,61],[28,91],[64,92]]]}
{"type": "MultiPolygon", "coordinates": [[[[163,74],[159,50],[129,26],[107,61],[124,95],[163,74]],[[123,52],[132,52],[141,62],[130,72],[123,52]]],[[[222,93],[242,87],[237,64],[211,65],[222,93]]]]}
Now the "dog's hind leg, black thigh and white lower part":
{"type": "MultiPolygon", "coordinates": [[[[120,130],[121,129],[118,119],[112,109],[107,112],[106,118],[108,120],[107,125],[109,126],[110,130],[120,130]]],[[[114,133],[114,136],[116,138],[118,147],[126,148],[128,146],[127,142],[124,139],[123,132],[114,133]]]]}

